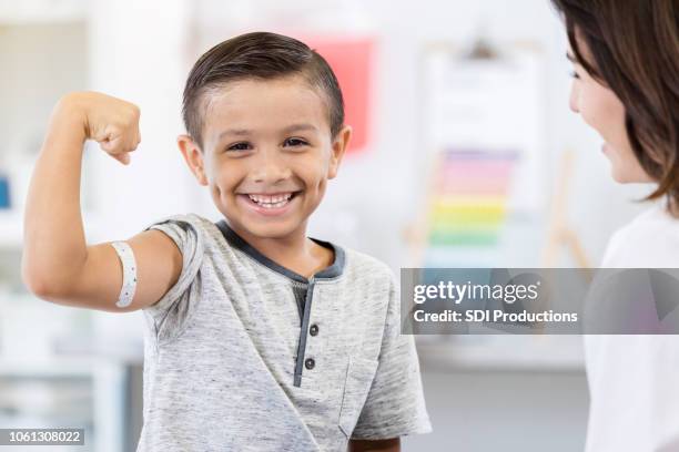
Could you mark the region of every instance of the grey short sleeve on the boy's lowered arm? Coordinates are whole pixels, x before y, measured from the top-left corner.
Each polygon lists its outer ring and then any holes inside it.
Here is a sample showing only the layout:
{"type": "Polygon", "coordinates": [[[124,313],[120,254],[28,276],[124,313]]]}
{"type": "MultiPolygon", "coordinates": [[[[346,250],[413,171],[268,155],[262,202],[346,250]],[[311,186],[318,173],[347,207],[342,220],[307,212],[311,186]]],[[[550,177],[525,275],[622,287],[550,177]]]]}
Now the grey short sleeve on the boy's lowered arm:
{"type": "Polygon", "coordinates": [[[383,440],[430,431],[415,340],[401,333],[398,290],[391,275],[377,371],[352,439],[383,440]]]}

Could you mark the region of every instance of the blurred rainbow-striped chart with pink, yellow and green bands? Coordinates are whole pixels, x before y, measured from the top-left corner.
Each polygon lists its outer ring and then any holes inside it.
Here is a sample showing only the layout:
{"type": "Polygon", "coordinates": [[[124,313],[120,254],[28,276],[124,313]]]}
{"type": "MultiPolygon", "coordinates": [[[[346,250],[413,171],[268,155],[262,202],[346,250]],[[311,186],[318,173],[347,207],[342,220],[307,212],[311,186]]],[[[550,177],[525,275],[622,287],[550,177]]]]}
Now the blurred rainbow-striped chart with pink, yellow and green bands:
{"type": "Polygon", "coordinates": [[[493,264],[518,155],[482,150],[440,153],[429,198],[426,267],[493,264]]]}

